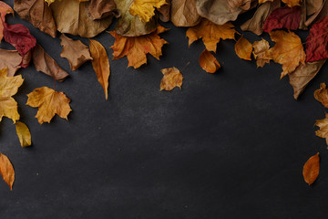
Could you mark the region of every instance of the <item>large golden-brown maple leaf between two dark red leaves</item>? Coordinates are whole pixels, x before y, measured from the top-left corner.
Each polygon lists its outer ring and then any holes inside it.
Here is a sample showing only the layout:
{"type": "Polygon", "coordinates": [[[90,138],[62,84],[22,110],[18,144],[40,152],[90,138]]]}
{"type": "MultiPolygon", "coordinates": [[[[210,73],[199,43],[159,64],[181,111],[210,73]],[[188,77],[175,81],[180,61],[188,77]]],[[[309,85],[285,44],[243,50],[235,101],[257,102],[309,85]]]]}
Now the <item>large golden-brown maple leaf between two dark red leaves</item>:
{"type": "Polygon", "coordinates": [[[282,77],[292,73],[300,63],[304,64],[305,52],[299,36],[282,30],[273,31],[270,36],[276,44],[269,49],[269,57],[282,64],[282,77]]]}

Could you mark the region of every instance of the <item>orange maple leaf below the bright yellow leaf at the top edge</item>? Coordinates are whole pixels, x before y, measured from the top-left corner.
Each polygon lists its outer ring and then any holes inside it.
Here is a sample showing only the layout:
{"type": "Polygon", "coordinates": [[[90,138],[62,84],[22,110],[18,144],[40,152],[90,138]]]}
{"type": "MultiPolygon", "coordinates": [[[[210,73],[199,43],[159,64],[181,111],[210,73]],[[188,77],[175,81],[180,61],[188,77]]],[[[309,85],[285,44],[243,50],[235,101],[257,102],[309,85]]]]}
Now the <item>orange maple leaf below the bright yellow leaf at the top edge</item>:
{"type": "Polygon", "coordinates": [[[159,37],[159,34],[166,31],[163,26],[145,36],[119,36],[116,31],[110,31],[109,34],[115,37],[115,43],[112,47],[113,59],[128,57],[128,67],[139,68],[147,63],[146,54],[150,53],[153,57],[159,59],[162,55],[161,47],[168,42],[159,37]]]}

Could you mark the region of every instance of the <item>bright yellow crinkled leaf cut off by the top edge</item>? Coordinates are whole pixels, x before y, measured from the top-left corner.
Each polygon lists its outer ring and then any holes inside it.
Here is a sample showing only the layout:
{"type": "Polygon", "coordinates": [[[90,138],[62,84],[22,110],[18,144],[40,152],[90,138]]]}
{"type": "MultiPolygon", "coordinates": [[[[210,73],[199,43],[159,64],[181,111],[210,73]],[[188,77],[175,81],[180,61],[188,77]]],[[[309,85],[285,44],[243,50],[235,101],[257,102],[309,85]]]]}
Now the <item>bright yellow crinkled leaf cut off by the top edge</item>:
{"type": "Polygon", "coordinates": [[[132,16],[139,16],[140,20],[149,22],[152,16],[155,16],[155,7],[167,4],[165,0],[134,0],[128,12],[132,16]]]}

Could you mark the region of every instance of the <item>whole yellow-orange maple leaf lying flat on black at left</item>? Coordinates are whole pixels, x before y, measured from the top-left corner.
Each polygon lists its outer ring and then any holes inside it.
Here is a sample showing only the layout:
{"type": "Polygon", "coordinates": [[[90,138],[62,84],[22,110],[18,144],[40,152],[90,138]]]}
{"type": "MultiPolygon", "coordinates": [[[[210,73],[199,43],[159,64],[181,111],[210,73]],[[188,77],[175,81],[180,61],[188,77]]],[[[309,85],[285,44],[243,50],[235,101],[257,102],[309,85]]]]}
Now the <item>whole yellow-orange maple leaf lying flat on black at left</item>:
{"type": "Polygon", "coordinates": [[[34,89],[27,94],[27,97],[26,105],[38,108],[36,119],[40,124],[50,123],[56,114],[67,120],[67,116],[72,110],[69,106],[70,99],[63,92],[57,92],[54,89],[46,87],[34,89]]]}

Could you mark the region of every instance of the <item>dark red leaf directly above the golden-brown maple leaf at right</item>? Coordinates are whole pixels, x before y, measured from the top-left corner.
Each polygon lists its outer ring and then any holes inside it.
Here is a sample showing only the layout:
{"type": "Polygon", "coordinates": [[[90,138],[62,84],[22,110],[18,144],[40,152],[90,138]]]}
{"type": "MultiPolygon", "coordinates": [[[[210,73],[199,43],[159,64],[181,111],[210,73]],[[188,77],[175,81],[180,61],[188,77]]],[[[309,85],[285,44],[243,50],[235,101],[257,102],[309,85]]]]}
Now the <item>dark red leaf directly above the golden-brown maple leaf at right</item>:
{"type": "Polygon", "coordinates": [[[272,14],[268,16],[263,26],[264,32],[271,32],[273,29],[298,29],[301,22],[300,6],[284,6],[272,11],[272,14]]]}

